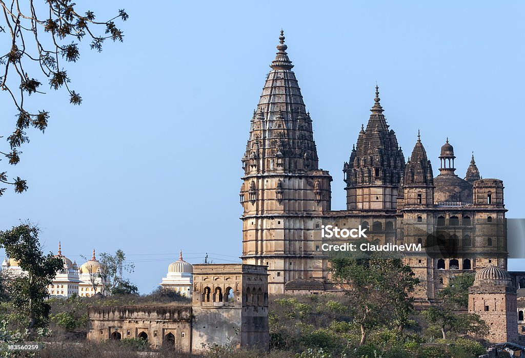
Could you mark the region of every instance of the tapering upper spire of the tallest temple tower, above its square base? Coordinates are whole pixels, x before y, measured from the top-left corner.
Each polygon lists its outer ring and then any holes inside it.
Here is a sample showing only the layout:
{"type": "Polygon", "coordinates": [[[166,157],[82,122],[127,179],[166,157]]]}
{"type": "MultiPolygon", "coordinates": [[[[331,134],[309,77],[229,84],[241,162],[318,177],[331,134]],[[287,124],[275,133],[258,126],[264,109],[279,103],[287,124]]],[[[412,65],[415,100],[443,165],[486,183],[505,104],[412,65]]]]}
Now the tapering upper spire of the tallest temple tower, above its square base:
{"type": "Polygon", "coordinates": [[[281,30],[272,70],[251,119],[243,168],[246,174],[318,169],[312,120],[306,111],[281,30]]]}

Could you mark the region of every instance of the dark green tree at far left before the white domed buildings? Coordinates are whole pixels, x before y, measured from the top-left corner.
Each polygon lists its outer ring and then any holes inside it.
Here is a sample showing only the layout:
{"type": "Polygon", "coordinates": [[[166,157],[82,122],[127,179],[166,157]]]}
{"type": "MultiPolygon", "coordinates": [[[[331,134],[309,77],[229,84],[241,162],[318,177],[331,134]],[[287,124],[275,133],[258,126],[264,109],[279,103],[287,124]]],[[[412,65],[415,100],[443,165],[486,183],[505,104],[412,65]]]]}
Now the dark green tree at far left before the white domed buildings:
{"type": "Polygon", "coordinates": [[[46,302],[47,286],[58,270],[64,269],[64,261],[51,252],[44,255],[38,241],[39,229],[22,224],[10,230],[0,231],[0,247],[6,255],[19,262],[26,275],[17,276],[10,282],[11,302],[14,309],[29,320],[28,328],[47,325],[50,306],[46,302]]]}

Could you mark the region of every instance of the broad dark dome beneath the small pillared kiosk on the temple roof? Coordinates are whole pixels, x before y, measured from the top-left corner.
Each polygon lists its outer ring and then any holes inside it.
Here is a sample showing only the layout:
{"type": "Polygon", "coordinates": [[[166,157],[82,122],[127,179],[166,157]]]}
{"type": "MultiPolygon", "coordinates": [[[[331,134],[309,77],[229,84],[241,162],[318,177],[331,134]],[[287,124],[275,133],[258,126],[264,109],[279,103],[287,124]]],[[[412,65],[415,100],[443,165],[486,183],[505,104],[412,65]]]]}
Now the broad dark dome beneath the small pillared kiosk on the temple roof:
{"type": "Polygon", "coordinates": [[[472,184],[457,175],[438,175],[434,186],[436,203],[472,203],[472,184]]]}

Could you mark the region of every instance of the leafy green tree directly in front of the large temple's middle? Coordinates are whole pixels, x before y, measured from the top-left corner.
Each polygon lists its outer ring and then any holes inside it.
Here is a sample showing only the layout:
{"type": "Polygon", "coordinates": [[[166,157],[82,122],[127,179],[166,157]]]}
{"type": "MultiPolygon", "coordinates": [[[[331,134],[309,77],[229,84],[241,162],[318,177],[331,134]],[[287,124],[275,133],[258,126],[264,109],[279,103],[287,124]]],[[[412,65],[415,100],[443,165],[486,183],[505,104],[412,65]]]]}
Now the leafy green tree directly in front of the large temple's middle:
{"type": "Polygon", "coordinates": [[[359,345],[365,343],[367,334],[380,323],[403,329],[413,310],[409,293],[419,280],[400,257],[355,251],[336,255],[330,262],[333,278],[350,297],[354,322],[360,325],[359,345]]]}

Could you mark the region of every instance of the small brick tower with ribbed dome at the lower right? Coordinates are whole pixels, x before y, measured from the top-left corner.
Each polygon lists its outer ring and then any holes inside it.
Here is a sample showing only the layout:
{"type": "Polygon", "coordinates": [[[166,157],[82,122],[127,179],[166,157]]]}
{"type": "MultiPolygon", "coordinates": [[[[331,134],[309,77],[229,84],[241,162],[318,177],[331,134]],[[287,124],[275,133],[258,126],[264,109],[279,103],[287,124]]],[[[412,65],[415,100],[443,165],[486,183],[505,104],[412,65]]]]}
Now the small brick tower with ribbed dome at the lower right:
{"type": "Polygon", "coordinates": [[[476,272],[469,288],[468,311],[477,313],[490,328],[489,342],[518,343],[516,288],[509,273],[491,265],[476,272]]]}

